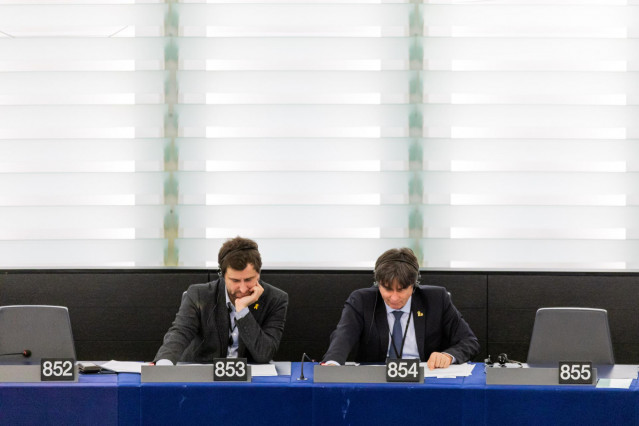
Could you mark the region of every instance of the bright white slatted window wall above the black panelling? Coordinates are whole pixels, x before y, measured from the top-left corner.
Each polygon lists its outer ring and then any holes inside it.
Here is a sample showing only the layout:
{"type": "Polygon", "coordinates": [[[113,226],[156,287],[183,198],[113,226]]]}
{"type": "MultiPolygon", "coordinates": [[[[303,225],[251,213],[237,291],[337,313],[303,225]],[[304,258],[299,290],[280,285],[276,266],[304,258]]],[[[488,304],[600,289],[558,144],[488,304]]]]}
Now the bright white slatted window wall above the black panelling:
{"type": "Polygon", "coordinates": [[[0,265],[639,268],[639,1],[0,0],[0,265]]]}

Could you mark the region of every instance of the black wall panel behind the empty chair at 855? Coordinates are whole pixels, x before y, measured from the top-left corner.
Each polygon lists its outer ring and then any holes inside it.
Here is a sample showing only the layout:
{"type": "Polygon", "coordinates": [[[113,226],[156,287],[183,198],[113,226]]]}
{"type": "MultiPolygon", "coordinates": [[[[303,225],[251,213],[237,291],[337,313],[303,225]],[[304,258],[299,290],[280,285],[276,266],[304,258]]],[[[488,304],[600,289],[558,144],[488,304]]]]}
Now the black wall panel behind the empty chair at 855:
{"type": "Polygon", "coordinates": [[[542,307],[608,311],[615,358],[639,363],[639,276],[635,274],[524,273],[488,278],[488,352],[525,361],[535,312],[542,307]]]}

